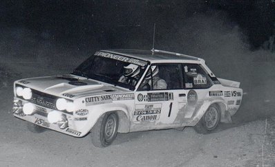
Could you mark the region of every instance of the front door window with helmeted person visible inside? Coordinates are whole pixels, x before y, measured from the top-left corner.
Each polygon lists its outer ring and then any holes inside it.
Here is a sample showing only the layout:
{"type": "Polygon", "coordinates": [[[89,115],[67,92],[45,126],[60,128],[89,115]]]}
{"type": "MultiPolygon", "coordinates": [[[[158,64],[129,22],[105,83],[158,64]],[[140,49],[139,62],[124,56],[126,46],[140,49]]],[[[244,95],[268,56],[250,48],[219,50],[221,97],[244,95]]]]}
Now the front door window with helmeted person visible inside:
{"type": "Polygon", "coordinates": [[[180,64],[151,65],[138,90],[183,89],[180,64]]]}

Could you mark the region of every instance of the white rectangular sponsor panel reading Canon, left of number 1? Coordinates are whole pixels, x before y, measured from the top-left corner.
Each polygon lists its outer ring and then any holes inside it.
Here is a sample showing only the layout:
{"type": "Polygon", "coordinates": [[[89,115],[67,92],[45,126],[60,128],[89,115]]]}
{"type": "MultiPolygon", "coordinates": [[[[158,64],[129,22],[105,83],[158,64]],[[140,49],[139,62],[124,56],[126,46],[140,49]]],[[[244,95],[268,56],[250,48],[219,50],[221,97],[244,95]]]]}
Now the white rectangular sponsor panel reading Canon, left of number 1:
{"type": "Polygon", "coordinates": [[[154,121],[160,119],[162,104],[137,104],[133,122],[154,121]]]}

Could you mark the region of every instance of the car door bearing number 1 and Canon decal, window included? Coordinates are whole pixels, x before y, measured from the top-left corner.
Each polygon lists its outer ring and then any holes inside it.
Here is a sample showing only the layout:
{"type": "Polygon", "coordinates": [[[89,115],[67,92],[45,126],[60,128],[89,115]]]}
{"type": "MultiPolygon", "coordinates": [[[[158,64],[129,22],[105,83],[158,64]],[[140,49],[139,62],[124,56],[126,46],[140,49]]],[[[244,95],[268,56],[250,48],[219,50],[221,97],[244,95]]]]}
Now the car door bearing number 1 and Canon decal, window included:
{"type": "Polygon", "coordinates": [[[149,67],[140,88],[135,92],[131,129],[164,129],[179,123],[175,123],[178,111],[187,102],[181,68],[180,63],[153,64],[149,67]],[[158,78],[158,82],[155,78],[158,78]]]}

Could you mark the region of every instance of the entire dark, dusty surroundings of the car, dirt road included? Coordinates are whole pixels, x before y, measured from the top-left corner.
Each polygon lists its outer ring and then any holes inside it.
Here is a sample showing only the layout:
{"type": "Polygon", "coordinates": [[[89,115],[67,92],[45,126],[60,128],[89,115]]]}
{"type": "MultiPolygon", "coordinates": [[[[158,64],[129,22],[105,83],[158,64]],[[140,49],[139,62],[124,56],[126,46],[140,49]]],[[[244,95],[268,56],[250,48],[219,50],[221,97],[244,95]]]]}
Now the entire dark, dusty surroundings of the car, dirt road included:
{"type": "Polygon", "coordinates": [[[274,0],[1,0],[1,166],[275,166],[274,0]],[[12,116],[13,82],[68,74],[98,49],[155,49],[204,58],[243,89],[217,133],[119,134],[108,148],[89,136],[33,134],[12,116]],[[50,161],[48,160],[50,159],[50,161]]]}

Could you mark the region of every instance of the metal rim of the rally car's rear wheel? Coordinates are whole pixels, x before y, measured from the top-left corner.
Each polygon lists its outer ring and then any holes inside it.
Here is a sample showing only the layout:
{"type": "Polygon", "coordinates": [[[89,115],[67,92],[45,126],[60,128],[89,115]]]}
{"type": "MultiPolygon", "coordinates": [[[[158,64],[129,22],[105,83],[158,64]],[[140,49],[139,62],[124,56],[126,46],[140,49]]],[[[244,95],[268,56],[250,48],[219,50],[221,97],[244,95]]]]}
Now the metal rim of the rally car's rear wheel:
{"type": "Polygon", "coordinates": [[[216,127],[218,123],[218,109],[215,107],[210,107],[205,113],[205,126],[207,129],[211,130],[216,127]]]}

